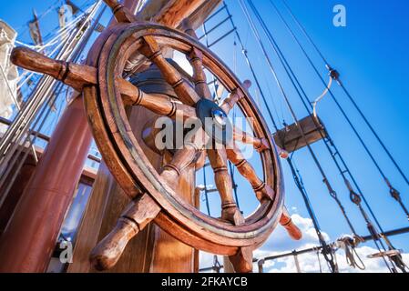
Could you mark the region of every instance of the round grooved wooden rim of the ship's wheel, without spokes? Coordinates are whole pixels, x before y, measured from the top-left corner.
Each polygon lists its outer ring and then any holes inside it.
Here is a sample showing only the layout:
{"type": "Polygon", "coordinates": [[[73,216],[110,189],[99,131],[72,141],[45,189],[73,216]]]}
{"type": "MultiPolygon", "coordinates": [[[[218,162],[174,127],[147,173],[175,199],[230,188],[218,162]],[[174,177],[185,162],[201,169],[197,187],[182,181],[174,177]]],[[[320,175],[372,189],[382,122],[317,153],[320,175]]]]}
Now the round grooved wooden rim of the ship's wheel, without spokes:
{"type": "MultiPolygon", "coordinates": [[[[284,198],[281,191],[281,165],[268,127],[239,79],[205,46],[189,35],[169,27],[142,22],[119,24],[108,29],[100,38],[87,59],[87,65],[98,68],[98,85],[86,87],[84,99],[97,145],[108,148],[107,151],[118,156],[118,161],[104,159],[108,168],[114,169],[111,172],[117,172],[114,176],[118,184],[130,196],[132,194],[129,192],[132,192],[133,188],[152,196],[162,208],[155,222],[189,246],[217,250],[217,253],[226,255],[234,254],[237,247],[260,246],[278,224],[281,215],[284,198]],[[269,142],[270,149],[261,153],[261,161],[264,180],[272,185],[275,196],[271,202],[259,206],[253,215],[247,217],[243,226],[220,225],[219,219],[203,214],[174,195],[174,191],[161,181],[157,170],[150,165],[132,134],[124,105],[121,104],[121,95],[115,85],[115,78],[118,72],[123,70],[128,55],[136,51],[138,40],[146,35],[154,36],[159,44],[163,39],[168,39],[169,47],[185,55],[192,46],[198,48],[203,53],[203,65],[215,74],[228,90],[240,87],[245,93],[245,97],[240,99],[238,105],[243,113],[251,112],[257,118],[256,131],[259,131],[259,135],[262,133],[269,142]],[[101,125],[104,128],[100,128],[101,125]],[[101,129],[105,133],[101,134],[101,129]],[[109,143],[110,145],[107,145],[109,143]],[[121,148],[128,148],[128,152],[122,152],[121,148]],[[268,166],[267,163],[271,165],[268,166]],[[121,172],[124,176],[118,175],[121,172]],[[149,183],[144,183],[146,181],[149,183]]],[[[101,152],[105,153],[104,150],[101,152]]]]}

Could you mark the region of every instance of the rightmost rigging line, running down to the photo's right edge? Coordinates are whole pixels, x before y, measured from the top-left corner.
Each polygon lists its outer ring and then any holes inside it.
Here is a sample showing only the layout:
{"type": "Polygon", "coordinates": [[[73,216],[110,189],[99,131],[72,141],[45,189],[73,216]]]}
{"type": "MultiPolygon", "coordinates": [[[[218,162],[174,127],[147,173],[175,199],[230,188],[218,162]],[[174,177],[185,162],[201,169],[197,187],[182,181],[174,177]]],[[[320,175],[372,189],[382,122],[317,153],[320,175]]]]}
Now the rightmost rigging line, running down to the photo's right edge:
{"type": "MultiPolygon", "coordinates": [[[[318,48],[318,46],[313,42],[312,37],[307,33],[305,27],[301,24],[301,22],[297,19],[297,17],[292,13],[290,6],[287,4],[287,2],[285,0],[282,0],[283,4],[286,6],[288,12],[290,13],[292,19],[296,22],[296,24],[298,25],[298,27],[302,30],[302,34],[305,35],[305,37],[308,39],[308,41],[310,42],[310,44],[315,48],[316,52],[321,56],[323,63],[325,64],[325,66],[327,67],[327,69],[330,71],[331,73],[331,66],[328,65],[329,63],[327,62],[327,60],[325,59],[325,57],[322,55],[322,52],[320,51],[320,49],[318,48]]],[[[349,93],[349,91],[346,89],[346,87],[343,85],[343,82],[341,82],[341,80],[339,80],[338,78],[336,79],[337,83],[339,85],[341,85],[341,87],[343,88],[343,92],[345,93],[345,95],[348,96],[348,98],[350,99],[350,101],[353,103],[353,106],[355,107],[355,109],[358,111],[359,115],[361,115],[361,117],[363,118],[364,123],[369,127],[369,129],[371,130],[371,132],[373,133],[373,135],[375,136],[376,140],[379,142],[379,144],[383,147],[383,151],[386,153],[386,155],[390,158],[390,160],[392,161],[392,163],[394,164],[395,168],[398,170],[399,174],[404,178],[404,181],[406,182],[406,184],[409,185],[409,179],[407,178],[407,176],[404,174],[404,171],[402,170],[402,168],[397,164],[396,160],[394,159],[394,156],[392,156],[391,152],[389,151],[389,149],[384,145],[383,140],[381,139],[381,137],[378,135],[378,133],[374,130],[373,125],[371,125],[371,123],[369,122],[369,120],[366,118],[366,116],[363,114],[363,111],[361,110],[361,108],[357,105],[357,103],[355,102],[353,96],[349,93]]]]}

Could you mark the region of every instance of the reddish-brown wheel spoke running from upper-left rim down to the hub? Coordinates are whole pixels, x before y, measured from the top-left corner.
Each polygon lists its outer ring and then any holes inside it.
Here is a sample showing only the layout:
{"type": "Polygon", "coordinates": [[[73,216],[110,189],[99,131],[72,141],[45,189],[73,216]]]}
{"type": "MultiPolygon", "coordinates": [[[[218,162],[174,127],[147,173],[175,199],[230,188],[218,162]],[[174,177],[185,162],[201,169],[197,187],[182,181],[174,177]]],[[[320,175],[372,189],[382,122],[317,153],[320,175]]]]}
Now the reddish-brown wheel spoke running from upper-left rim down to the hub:
{"type": "Polygon", "coordinates": [[[188,85],[179,71],[173,65],[170,65],[162,55],[158,42],[150,35],[143,36],[143,39],[144,44],[139,48],[139,52],[158,66],[166,82],[173,87],[182,103],[187,105],[196,104],[199,101],[199,95],[188,85]]]}

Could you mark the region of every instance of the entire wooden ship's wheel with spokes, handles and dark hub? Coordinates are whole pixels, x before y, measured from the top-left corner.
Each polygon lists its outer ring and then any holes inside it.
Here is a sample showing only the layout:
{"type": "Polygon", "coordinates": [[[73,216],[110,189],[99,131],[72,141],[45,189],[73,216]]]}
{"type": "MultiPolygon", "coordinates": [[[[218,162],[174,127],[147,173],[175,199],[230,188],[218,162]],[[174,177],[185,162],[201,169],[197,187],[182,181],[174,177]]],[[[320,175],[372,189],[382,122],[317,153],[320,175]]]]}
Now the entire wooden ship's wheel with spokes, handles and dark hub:
{"type": "Polygon", "coordinates": [[[279,221],[292,237],[301,236],[289,216],[283,214],[281,166],[261,113],[245,86],[216,55],[195,39],[191,29],[184,33],[162,25],[137,22],[115,1],[109,1],[108,5],[113,8],[119,24],[99,35],[86,65],[51,60],[26,48],[15,48],[12,53],[15,65],[52,75],[83,93],[89,125],[99,151],[118,184],[132,198],[117,226],[94,248],[90,259],[97,269],[114,266],[128,241],[153,220],[189,246],[229,256],[236,271],[251,271],[252,250],[265,242],[279,221]],[[194,72],[193,86],[162,55],[165,48],[187,55],[194,72]],[[138,55],[157,65],[178,100],[144,93],[124,77],[128,59],[138,55]],[[203,67],[230,92],[220,105],[211,99],[203,67]],[[136,105],[170,118],[181,116],[184,120],[199,121],[211,118],[216,126],[209,128],[202,122],[203,126],[191,136],[189,143],[173,151],[169,162],[157,171],[149,163],[128,123],[126,107],[136,105]],[[230,125],[227,115],[236,105],[246,117],[252,118],[254,135],[230,125]],[[218,139],[212,131],[216,127],[227,137],[218,139]],[[263,177],[256,175],[234,140],[250,144],[260,153],[263,177]],[[209,144],[219,146],[207,148],[209,144]],[[199,165],[205,156],[210,160],[220,193],[219,218],[203,214],[175,192],[184,168],[192,163],[199,165]],[[228,160],[249,181],[260,201],[251,216],[242,216],[234,202],[228,160]]]}

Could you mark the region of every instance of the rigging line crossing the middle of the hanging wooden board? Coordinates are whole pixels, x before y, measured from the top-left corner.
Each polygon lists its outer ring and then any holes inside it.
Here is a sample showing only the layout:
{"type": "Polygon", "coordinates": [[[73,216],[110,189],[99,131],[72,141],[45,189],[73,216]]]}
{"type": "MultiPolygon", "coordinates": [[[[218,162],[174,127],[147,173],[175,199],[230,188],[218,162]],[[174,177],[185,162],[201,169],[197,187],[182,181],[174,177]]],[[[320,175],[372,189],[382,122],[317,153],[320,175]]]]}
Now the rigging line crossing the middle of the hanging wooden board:
{"type": "MultiPolygon", "coordinates": [[[[254,7],[252,5],[251,0],[248,0],[248,3],[251,5],[251,7],[254,7]]],[[[259,35],[259,33],[257,31],[257,28],[256,28],[254,22],[252,21],[251,15],[250,15],[249,11],[247,10],[247,7],[245,6],[243,0],[240,0],[240,6],[241,6],[241,9],[243,10],[244,14],[246,15],[246,18],[247,18],[249,24],[251,25],[252,32],[253,32],[253,35],[256,37],[257,43],[261,46],[261,50],[263,52],[263,55],[265,56],[265,58],[267,60],[267,63],[269,65],[269,67],[270,67],[271,74],[274,76],[274,79],[275,79],[276,84],[278,85],[278,87],[279,87],[279,89],[281,91],[281,95],[282,95],[282,97],[283,97],[283,99],[285,101],[285,104],[287,105],[287,107],[288,107],[288,109],[289,109],[289,111],[291,113],[291,116],[292,116],[295,124],[297,125],[297,128],[298,128],[300,134],[302,135],[302,139],[304,140],[304,142],[305,142],[305,144],[306,144],[306,146],[307,146],[307,148],[308,148],[308,150],[309,150],[309,152],[310,152],[310,154],[312,156],[314,164],[317,166],[318,170],[320,171],[320,173],[322,175],[322,182],[327,187],[330,196],[332,196],[332,198],[338,204],[341,212],[343,213],[343,217],[345,218],[345,221],[347,222],[348,226],[351,228],[351,231],[353,232],[354,235],[356,235],[356,231],[355,231],[355,229],[353,227],[353,224],[352,224],[351,220],[346,215],[346,212],[345,212],[345,210],[344,210],[344,208],[343,208],[343,206],[342,206],[336,192],[333,190],[332,185],[331,185],[330,181],[328,180],[328,177],[326,176],[326,174],[325,174],[325,172],[324,172],[324,170],[322,168],[321,163],[319,162],[317,156],[315,155],[314,151],[312,150],[312,146],[308,143],[307,138],[305,137],[305,134],[304,134],[304,132],[302,130],[302,126],[299,123],[297,115],[295,115],[295,112],[294,112],[294,110],[293,110],[293,108],[291,106],[291,103],[290,103],[290,100],[289,100],[288,96],[284,92],[284,89],[283,89],[283,87],[281,85],[281,82],[280,82],[280,80],[278,78],[278,75],[277,75],[273,65],[271,64],[271,59],[270,59],[269,55],[267,54],[267,50],[264,47],[264,45],[262,44],[261,36],[259,35]]]]}

